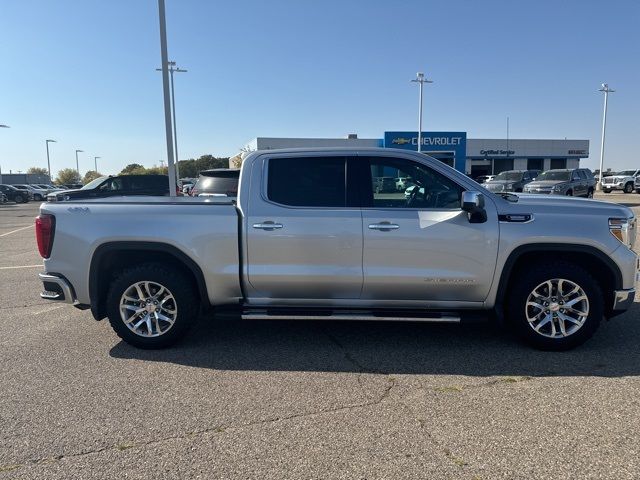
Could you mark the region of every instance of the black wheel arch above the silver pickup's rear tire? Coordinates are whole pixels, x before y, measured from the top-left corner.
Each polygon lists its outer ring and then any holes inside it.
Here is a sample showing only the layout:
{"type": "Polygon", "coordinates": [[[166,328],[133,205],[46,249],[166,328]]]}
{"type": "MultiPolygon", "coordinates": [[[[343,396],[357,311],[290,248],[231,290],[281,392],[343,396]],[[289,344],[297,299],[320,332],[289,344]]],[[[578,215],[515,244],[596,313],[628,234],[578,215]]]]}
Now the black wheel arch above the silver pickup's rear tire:
{"type": "Polygon", "coordinates": [[[117,272],[125,266],[154,261],[164,262],[186,273],[193,282],[201,305],[211,306],[202,269],[186,253],[162,242],[116,241],[100,245],[91,258],[89,298],[93,317],[96,320],[106,317],[105,300],[111,280],[117,272]]]}

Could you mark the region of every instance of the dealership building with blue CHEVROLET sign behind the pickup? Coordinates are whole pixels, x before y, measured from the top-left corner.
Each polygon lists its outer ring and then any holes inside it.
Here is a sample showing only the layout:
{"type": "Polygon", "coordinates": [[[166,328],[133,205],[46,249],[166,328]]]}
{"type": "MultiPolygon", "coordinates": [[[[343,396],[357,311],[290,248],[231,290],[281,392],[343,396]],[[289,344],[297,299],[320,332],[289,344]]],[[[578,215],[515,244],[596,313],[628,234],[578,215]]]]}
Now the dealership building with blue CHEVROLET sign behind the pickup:
{"type": "MultiPolygon", "coordinates": [[[[385,132],[383,138],[258,137],[243,151],[277,148],[382,147],[418,150],[418,132],[385,132]]],[[[422,152],[472,177],[505,170],[577,168],[589,156],[589,140],[478,139],[466,132],[423,132],[422,152]]]]}

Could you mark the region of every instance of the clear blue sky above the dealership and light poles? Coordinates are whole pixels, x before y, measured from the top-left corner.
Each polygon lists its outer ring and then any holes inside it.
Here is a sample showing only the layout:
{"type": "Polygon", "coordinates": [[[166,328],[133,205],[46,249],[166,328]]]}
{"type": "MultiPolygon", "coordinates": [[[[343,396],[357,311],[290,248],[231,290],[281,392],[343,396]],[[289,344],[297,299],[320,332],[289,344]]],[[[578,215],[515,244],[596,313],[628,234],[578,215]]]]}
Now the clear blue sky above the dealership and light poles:
{"type": "MultiPolygon", "coordinates": [[[[640,166],[640,2],[166,0],[180,158],[234,154],[256,136],[425,130],[591,140],[640,166]]],[[[166,158],[155,0],[2,0],[0,166],[103,173],[166,158]]]]}

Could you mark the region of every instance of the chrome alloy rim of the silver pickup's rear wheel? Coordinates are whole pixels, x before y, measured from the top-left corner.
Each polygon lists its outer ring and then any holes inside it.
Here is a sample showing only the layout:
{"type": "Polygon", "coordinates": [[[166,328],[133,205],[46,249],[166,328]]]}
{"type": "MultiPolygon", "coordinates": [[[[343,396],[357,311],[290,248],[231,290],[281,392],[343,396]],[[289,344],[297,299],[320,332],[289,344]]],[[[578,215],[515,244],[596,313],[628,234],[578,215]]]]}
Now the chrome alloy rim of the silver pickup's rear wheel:
{"type": "Polygon", "coordinates": [[[156,282],[136,282],[120,297],[120,318],[141,337],[164,335],[173,327],[177,315],[175,298],[156,282]]]}

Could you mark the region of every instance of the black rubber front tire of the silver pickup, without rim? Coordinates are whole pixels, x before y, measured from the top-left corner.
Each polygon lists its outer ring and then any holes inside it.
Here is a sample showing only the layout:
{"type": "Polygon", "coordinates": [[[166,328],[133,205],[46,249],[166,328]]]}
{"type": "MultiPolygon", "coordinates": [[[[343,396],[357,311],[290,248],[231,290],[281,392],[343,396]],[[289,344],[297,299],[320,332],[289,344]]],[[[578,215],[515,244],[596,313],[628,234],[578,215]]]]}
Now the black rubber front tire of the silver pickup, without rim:
{"type": "Polygon", "coordinates": [[[562,351],[577,347],[587,341],[600,325],[604,316],[604,300],[598,282],[586,270],[568,262],[546,263],[529,266],[513,281],[506,302],[507,319],[515,332],[529,345],[540,350],[562,351]],[[527,301],[531,292],[551,279],[566,279],[579,285],[588,299],[588,315],[574,333],[560,338],[550,338],[536,332],[527,320],[527,301]]]}

